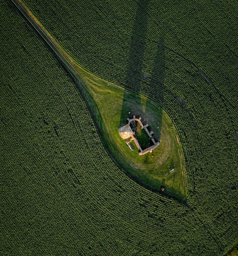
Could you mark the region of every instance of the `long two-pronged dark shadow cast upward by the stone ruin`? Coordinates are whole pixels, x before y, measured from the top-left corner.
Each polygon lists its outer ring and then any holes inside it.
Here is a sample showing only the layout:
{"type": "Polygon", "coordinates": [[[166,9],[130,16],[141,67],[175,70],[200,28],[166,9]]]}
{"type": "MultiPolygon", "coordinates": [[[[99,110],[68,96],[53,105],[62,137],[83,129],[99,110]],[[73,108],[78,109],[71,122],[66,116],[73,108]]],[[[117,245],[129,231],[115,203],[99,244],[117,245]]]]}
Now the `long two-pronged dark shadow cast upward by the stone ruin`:
{"type": "MultiPolygon", "coordinates": [[[[155,55],[155,61],[152,69],[151,76],[142,73],[143,69],[143,55],[145,51],[145,38],[147,34],[148,23],[148,5],[150,0],[139,0],[137,3],[137,11],[134,20],[131,36],[131,48],[128,59],[128,69],[125,79],[125,91],[122,102],[120,126],[127,123],[127,118],[132,118],[133,115],[142,116],[142,122],[147,123],[146,116],[148,117],[148,100],[143,99],[139,93],[142,92],[148,95],[148,99],[157,99],[158,95],[151,97],[153,94],[160,95],[160,105],[163,104],[163,76],[165,69],[164,62],[164,48],[163,40],[160,40],[155,55]],[[132,93],[131,91],[136,92],[132,93]],[[143,120],[144,119],[144,120],[143,120]]],[[[162,109],[159,109],[157,113],[157,123],[153,127],[154,139],[160,141],[161,126],[162,126],[162,109]],[[158,122],[159,119],[159,122],[158,122]],[[156,131],[155,131],[156,129],[156,131]]],[[[152,118],[153,119],[153,118],[152,118]]],[[[151,125],[149,123],[149,125],[151,125]]],[[[150,129],[150,127],[149,127],[150,129]]]]}

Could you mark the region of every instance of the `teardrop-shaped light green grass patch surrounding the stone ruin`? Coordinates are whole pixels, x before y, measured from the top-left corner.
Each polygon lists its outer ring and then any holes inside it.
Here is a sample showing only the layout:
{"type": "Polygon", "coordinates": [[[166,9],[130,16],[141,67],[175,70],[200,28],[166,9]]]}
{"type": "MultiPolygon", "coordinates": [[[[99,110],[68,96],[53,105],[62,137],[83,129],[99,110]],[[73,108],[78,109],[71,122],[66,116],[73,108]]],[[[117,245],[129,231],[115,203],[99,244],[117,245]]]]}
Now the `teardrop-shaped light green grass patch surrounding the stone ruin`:
{"type": "MultiPolygon", "coordinates": [[[[85,81],[83,90],[87,91],[87,102],[102,140],[116,163],[144,186],[157,191],[163,186],[165,195],[185,198],[186,177],[182,147],[178,143],[176,130],[168,115],[159,106],[138,94],[113,84],[108,85],[106,81],[79,68],[78,72],[85,81]],[[131,145],[134,151],[131,151],[119,136],[118,128],[125,125],[127,118],[133,115],[142,116],[142,122],[148,123],[150,130],[154,131],[154,139],[160,141],[160,145],[152,153],[140,156],[133,142],[131,145]],[[175,169],[172,174],[169,172],[171,167],[175,169]],[[166,173],[168,175],[165,177],[166,173]]],[[[141,139],[143,144],[146,143],[145,135],[138,137],[139,141],[141,139]]]]}

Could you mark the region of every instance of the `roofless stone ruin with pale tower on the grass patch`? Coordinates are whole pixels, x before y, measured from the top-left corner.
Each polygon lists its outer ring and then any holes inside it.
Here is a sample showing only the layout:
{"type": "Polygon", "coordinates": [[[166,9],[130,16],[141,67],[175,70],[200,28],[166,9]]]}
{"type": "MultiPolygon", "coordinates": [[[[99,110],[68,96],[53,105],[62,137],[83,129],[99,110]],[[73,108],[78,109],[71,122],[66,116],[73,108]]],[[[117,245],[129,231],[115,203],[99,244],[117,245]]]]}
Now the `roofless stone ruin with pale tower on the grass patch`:
{"type": "Polygon", "coordinates": [[[133,116],[132,119],[128,118],[128,124],[127,125],[124,125],[122,126],[121,128],[119,128],[119,134],[120,136],[122,137],[123,140],[126,140],[126,139],[129,139],[131,138],[129,141],[126,141],[126,144],[128,145],[128,147],[131,149],[131,151],[133,151],[133,148],[131,147],[130,143],[131,141],[134,140],[135,144],[136,144],[136,147],[139,149],[139,154],[140,155],[143,155],[143,154],[146,154],[148,152],[152,152],[152,150],[154,148],[156,148],[158,145],[160,145],[159,142],[155,142],[154,138],[152,137],[152,134],[153,134],[153,131],[149,132],[147,127],[149,126],[148,124],[146,125],[143,125],[142,122],[141,122],[141,117],[136,118],[136,116],[133,116]],[[136,137],[134,136],[135,135],[135,132],[132,131],[131,129],[131,124],[133,126],[135,126],[135,121],[139,122],[140,126],[142,129],[145,129],[145,131],[147,132],[148,136],[150,137],[151,141],[154,143],[154,145],[142,150],[141,146],[139,145],[139,142],[138,140],[136,139],[136,137]]]}

